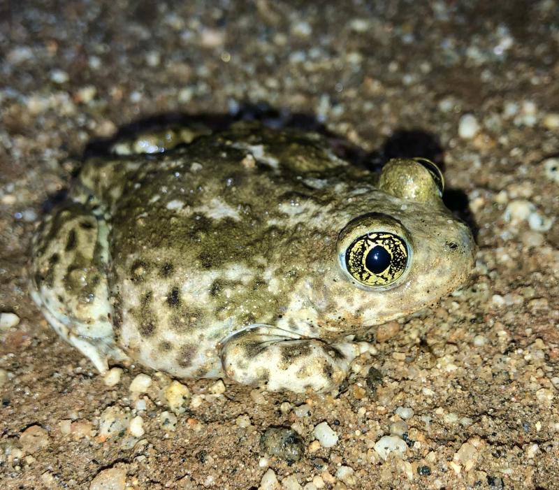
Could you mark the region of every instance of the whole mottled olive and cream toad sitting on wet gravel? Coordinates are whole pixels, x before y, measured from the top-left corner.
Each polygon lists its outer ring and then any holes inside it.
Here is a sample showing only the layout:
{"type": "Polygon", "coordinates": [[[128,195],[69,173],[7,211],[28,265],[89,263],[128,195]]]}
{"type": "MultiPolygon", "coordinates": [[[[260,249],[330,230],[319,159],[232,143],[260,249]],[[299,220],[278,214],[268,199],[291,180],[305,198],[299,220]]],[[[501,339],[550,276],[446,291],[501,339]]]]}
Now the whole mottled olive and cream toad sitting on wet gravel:
{"type": "Polygon", "coordinates": [[[470,276],[428,159],[379,172],[259,122],[148,140],[84,161],[33,240],[31,298],[101,373],[335,390],[377,326],[470,276]]]}

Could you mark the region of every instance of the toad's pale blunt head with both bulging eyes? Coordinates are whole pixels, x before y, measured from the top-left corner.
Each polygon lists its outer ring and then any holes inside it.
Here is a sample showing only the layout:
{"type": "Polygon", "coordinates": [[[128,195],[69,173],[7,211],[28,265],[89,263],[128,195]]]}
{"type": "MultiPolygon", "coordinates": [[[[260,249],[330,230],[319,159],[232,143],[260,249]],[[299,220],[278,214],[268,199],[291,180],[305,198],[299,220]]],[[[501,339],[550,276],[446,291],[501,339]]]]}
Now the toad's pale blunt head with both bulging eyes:
{"type": "MultiPolygon", "coordinates": [[[[382,194],[358,196],[360,213],[340,231],[330,297],[340,329],[381,324],[431,305],[470,275],[470,229],[442,203],[442,173],[425,159],[395,159],[382,194]],[[342,325],[341,325],[342,324],[342,325]]],[[[335,329],[333,315],[328,326],[335,329]]]]}

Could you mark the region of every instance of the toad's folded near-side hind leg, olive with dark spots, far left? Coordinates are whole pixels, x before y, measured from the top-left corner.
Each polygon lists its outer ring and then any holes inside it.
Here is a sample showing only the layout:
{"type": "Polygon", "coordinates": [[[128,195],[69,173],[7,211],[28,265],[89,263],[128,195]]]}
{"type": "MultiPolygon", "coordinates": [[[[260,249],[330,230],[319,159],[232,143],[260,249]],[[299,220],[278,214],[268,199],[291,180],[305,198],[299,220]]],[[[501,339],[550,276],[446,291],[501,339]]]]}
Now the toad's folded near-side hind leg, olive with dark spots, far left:
{"type": "Polygon", "coordinates": [[[115,344],[108,296],[108,225],[79,203],[45,219],[33,246],[31,298],[55,331],[104,372],[115,344]]]}

